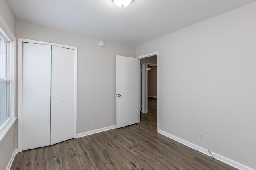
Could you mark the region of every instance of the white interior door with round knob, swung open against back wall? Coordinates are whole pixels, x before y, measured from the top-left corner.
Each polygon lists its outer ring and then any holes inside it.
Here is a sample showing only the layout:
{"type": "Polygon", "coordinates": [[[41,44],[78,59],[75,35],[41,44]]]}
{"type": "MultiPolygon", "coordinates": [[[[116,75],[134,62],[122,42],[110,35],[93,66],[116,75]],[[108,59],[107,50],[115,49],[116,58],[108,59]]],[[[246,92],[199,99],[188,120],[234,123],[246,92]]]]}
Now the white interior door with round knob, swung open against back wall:
{"type": "Polygon", "coordinates": [[[116,56],[116,127],[140,121],[140,62],[138,58],[116,56]]]}

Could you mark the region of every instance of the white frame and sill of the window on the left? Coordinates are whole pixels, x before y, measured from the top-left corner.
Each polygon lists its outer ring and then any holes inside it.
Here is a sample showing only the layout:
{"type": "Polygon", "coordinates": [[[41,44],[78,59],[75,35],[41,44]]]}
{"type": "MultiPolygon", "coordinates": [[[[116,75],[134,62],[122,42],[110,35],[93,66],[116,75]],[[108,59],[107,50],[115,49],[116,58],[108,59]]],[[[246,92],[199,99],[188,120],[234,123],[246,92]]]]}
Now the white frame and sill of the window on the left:
{"type": "Polygon", "coordinates": [[[15,116],[15,89],[16,89],[16,38],[12,31],[8,27],[7,23],[4,21],[0,15],[0,35],[7,42],[7,79],[1,79],[0,81],[10,82],[10,117],[4,122],[0,127],[0,143],[7,135],[8,131],[12,128],[16,121],[15,116]]]}

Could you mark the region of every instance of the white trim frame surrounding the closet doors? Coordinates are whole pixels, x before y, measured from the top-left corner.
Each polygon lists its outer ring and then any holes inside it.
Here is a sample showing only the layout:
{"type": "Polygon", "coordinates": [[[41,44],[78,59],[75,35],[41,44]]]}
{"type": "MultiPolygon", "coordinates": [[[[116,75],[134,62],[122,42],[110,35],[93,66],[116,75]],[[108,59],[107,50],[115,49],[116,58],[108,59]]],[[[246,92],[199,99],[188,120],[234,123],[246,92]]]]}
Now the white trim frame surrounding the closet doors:
{"type": "Polygon", "coordinates": [[[77,47],[70,45],[62,45],[49,43],[44,41],[36,41],[31,39],[18,39],[18,152],[22,152],[22,61],[23,61],[23,43],[36,43],[42,45],[52,45],[68,49],[74,49],[74,138],[76,138],[77,123],[77,47]]]}

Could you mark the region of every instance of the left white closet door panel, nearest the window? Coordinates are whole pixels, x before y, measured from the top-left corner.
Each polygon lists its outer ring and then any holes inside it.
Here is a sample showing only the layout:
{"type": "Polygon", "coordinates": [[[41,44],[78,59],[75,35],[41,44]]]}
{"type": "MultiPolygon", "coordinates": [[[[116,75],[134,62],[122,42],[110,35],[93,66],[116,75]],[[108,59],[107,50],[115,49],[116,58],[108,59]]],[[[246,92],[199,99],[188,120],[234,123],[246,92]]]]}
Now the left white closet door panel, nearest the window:
{"type": "Polygon", "coordinates": [[[51,46],[23,43],[22,150],[50,145],[51,46]]]}

